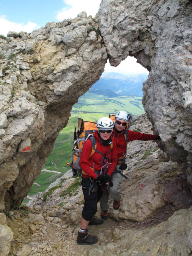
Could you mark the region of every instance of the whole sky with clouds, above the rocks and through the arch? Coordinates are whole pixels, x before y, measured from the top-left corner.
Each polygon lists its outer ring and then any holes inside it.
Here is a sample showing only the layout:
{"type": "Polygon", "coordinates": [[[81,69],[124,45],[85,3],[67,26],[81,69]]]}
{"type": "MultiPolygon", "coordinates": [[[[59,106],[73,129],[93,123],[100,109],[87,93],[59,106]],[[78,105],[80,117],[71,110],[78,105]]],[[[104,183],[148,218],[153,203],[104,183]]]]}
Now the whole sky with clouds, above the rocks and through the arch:
{"type": "MultiPolygon", "coordinates": [[[[25,31],[44,27],[47,22],[59,22],[75,18],[80,12],[95,16],[101,0],[0,0],[0,34],[6,36],[9,31],[25,31]]],[[[118,67],[106,64],[105,71],[118,73],[147,73],[136,63],[134,57],[128,57],[118,67]]]]}

